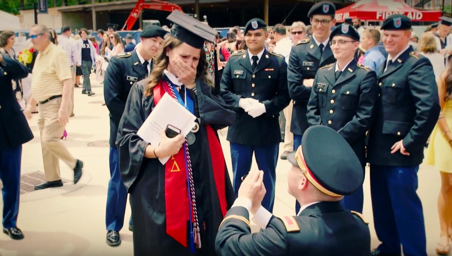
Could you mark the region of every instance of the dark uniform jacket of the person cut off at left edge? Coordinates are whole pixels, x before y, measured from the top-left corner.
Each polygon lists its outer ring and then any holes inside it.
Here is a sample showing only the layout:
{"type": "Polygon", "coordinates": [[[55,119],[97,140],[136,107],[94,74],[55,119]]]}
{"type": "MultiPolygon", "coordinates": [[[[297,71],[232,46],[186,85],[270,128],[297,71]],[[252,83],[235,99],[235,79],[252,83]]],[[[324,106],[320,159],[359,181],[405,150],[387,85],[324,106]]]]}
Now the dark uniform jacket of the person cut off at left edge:
{"type": "Polygon", "coordinates": [[[14,148],[33,139],[27,119],[13,93],[11,79],[28,75],[26,66],[2,54],[5,65],[0,64],[0,149],[14,148]]]}

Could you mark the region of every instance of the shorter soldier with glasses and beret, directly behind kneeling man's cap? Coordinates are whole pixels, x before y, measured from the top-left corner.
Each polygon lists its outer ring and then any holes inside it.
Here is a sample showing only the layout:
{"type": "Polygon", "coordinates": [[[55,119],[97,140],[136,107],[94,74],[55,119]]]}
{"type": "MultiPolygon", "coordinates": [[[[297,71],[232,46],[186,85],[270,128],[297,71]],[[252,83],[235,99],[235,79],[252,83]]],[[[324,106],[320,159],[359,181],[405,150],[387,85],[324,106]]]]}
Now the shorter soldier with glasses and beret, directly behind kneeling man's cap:
{"type": "MultiPolygon", "coordinates": [[[[366,132],[378,98],[377,74],[354,60],[359,35],[351,25],[334,28],[330,43],[337,61],[317,71],[308,102],[308,123],[337,130],[358,156],[364,173],[366,132]]],[[[362,213],[363,186],[342,202],[344,208],[362,213]]]]}

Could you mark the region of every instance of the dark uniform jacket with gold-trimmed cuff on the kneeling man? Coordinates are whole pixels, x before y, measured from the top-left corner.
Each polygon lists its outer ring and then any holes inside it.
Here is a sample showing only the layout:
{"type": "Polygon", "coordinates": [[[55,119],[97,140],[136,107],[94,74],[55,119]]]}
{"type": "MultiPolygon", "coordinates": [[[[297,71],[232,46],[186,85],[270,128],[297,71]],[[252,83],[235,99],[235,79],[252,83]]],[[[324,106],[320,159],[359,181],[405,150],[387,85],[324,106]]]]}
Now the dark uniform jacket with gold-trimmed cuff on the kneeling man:
{"type": "Polygon", "coordinates": [[[273,216],[267,228],[251,234],[248,210],[237,206],[221,223],[215,247],[221,256],[365,256],[370,232],[361,214],[320,202],[299,216],[273,216]]]}

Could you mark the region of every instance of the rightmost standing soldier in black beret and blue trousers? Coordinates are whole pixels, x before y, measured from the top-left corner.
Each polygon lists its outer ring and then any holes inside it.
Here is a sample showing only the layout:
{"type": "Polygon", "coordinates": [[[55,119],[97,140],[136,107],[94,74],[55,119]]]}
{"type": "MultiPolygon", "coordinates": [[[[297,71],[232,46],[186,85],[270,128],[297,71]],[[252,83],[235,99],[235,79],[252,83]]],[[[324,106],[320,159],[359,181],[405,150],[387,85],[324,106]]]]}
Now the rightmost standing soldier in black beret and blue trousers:
{"type": "Polygon", "coordinates": [[[377,72],[379,97],[369,131],[367,162],[376,255],[426,256],[422,204],[416,194],[424,145],[439,116],[438,88],[430,61],[410,46],[411,21],[393,14],[381,26],[388,57],[377,72]]]}

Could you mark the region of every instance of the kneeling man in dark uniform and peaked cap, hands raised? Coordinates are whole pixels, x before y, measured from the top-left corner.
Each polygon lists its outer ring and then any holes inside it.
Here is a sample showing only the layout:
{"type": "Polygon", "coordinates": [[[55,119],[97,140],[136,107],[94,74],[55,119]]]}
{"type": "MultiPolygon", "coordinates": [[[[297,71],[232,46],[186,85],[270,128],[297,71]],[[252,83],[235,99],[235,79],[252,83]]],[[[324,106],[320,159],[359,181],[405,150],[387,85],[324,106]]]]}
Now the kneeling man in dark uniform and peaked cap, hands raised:
{"type": "Polygon", "coordinates": [[[288,191],[303,205],[297,216],[278,218],[260,202],[264,172],[251,171],[226,214],[216,239],[222,256],[369,255],[370,232],[363,215],[339,200],[363,183],[361,164],[344,138],[326,126],[312,126],[289,153],[288,191]],[[249,211],[262,230],[251,234],[249,211]]]}

